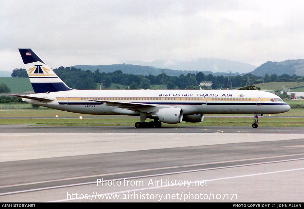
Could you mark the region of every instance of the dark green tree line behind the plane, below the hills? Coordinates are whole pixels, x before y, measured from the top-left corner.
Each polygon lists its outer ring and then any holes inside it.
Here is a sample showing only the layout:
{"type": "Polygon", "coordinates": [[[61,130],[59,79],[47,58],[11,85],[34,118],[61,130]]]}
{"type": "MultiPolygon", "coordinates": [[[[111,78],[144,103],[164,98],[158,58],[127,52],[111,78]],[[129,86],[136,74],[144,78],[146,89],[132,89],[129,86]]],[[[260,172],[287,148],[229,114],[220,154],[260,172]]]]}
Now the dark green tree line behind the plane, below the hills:
{"type": "MultiPolygon", "coordinates": [[[[149,75],[134,75],[125,74],[121,70],[116,70],[112,73],[99,72],[99,69],[94,72],[90,70],[83,71],[75,67],[59,67],[54,69],[54,72],[67,84],[68,87],[74,89],[96,89],[96,83],[102,83],[104,88],[110,88],[112,83],[122,84],[127,89],[149,89],[150,85],[164,84],[167,89],[199,89],[199,84],[202,81],[212,81],[212,89],[226,88],[228,83],[228,76],[223,75],[214,76],[212,74],[205,75],[202,72],[196,74],[188,73],[180,76],[166,75],[165,73],[154,76],[149,75]]],[[[15,69],[12,72],[12,77],[28,77],[25,69],[15,69]]],[[[304,77],[297,75],[283,74],[278,76],[276,74],[265,74],[262,76],[255,76],[252,74],[231,76],[233,88],[246,86],[246,84],[253,85],[263,82],[278,82],[278,81],[304,81],[304,77]]],[[[117,86],[118,87],[118,86],[117,86]]],[[[118,87],[119,88],[119,87],[118,87]]],[[[208,87],[203,87],[207,89],[208,87]]]]}

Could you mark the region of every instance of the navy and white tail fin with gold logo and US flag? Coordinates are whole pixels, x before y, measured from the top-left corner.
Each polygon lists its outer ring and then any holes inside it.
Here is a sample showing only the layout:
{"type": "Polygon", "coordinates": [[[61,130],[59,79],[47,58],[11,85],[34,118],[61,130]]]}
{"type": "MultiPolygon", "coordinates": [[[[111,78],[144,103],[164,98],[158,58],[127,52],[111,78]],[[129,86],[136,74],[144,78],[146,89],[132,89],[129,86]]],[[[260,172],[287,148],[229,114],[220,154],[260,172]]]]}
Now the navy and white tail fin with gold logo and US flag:
{"type": "Polygon", "coordinates": [[[32,49],[19,49],[35,93],[74,90],[68,87],[32,49]]]}

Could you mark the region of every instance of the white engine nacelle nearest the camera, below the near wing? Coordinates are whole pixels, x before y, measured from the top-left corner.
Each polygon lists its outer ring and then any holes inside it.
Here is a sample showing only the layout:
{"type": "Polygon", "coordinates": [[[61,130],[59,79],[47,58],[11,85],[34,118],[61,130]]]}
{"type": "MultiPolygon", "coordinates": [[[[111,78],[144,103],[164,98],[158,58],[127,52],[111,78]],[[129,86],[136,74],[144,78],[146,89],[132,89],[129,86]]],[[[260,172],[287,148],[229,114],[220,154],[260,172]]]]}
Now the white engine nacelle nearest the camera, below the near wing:
{"type": "Polygon", "coordinates": [[[164,123],[180,123],[183,120],[181,108],[161,108],[157,115],[159,121],[164,123]]]}

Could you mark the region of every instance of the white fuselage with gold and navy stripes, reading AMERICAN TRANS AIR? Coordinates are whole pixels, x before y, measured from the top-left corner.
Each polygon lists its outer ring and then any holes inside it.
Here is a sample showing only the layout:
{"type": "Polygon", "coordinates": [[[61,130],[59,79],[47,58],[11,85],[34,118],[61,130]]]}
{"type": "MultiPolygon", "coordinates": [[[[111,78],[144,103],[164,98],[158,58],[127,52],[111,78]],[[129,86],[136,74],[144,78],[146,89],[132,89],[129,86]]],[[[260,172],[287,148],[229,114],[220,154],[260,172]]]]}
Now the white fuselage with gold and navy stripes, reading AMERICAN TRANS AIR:
{"type": "Polygon", "coordinates": [[[275,94],[255,90],[71,90],[31,96],[54,100],[48,103],[32,99],[24,101],[93,115],[140,115],[140,112],[149,113],[164,107],[181,108],[183,115],[275,114],[290,109],[290,106],[275,94]],[[107,101],[116,101],[119,104],[109,105],[106,104],[107,101]],[[121,103],[126,103],[128,108],[124,108],[121,103]],[[132,108],[130,103],[155,106],[145,108],[134,105],[132,108]]]}

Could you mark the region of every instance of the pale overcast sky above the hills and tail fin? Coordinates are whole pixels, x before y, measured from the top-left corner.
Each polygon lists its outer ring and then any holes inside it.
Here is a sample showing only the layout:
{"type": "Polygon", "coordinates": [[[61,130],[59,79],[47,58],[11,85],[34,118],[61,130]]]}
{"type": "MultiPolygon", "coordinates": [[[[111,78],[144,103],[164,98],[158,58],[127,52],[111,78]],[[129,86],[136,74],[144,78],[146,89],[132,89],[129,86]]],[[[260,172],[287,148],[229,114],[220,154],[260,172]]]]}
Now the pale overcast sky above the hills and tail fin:
{"type": "Polygon", "coordinates": [[[304,59],[304,2],[0,0],[0,70],[32,48],[51,68],[219,58],[304,59]]]}

